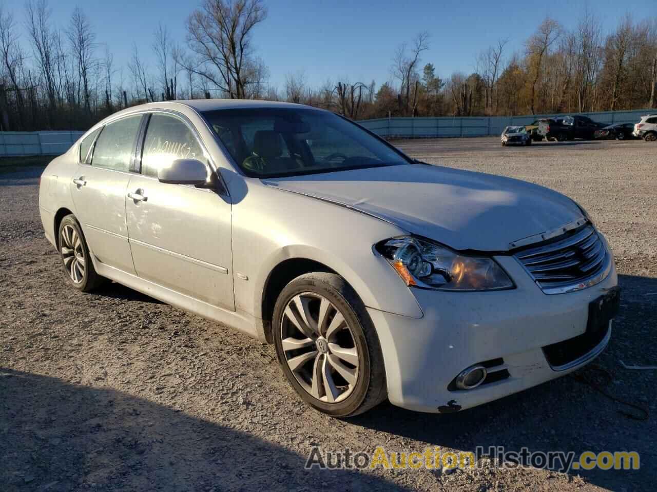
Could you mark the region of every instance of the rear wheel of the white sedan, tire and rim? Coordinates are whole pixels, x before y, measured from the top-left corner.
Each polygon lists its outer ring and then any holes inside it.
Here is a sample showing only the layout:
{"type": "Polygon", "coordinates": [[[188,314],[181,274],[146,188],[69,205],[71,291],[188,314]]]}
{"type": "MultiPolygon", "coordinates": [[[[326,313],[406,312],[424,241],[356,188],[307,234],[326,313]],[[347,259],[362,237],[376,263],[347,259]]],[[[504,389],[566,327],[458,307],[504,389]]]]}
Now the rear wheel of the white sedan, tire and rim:
{"type": "Polygon", "coordinates": [[[59,257],[69,285],[82,292],[91,292],[100,287],[106,279],[93,268],[87,241],[74,215],[62,218],[57,234],[59,257]]]}

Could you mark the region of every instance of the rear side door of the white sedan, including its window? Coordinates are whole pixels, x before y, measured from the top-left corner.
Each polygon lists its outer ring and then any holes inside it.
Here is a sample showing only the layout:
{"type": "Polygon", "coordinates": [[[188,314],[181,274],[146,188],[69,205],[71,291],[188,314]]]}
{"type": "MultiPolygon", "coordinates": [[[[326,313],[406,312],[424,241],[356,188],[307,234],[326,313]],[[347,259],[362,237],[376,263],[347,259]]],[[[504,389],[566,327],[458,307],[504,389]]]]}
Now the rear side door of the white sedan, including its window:
{"type": "Polygon", "coordinates": [[[82,230],[100,262],[135,274],[125,220],[125,193],[142,115],[105,125],[95,142],[81,145],[81,162],[70,184],[82,230]]]}

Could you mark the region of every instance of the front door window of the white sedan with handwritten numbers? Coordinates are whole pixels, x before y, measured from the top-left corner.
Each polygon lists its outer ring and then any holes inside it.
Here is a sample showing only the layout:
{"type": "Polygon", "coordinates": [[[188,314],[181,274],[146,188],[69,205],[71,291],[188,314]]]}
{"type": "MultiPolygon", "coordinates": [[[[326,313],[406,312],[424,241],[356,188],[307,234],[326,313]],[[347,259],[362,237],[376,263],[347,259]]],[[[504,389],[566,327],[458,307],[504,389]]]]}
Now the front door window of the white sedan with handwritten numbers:
{"type": "Polygon", "coordinates": [[[175,159],[198,159],[206,163],[203,149],[190,129],[175,116],[151,115],[141,159],[141,173],[158,176],[158,169],[175,159]]]}

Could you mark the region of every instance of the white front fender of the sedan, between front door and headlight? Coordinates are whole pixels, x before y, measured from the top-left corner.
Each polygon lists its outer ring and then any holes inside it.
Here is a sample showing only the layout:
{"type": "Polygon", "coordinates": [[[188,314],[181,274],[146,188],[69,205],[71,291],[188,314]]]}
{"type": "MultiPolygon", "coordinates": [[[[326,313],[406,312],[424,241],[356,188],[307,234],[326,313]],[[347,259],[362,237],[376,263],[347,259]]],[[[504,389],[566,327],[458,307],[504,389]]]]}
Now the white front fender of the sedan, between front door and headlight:
{"type": "Polygon", "coordinates": [[[263,291],[273,268],[289,258],[307,258],[344,277],[365,306],[422,316],[408,287],[373,251],[374,243],[405,231],[340,205],[278,190],[256,178],[235,176],[229,188],[237,310],[262,318],[263,291]]]}

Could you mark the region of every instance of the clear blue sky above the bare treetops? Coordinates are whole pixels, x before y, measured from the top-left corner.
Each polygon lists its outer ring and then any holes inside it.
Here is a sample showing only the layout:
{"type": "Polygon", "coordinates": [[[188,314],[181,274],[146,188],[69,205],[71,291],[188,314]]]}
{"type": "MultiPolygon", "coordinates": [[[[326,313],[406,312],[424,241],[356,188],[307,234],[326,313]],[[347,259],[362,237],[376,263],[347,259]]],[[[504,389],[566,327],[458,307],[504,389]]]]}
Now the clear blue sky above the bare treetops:
{"type": "MultiPolygon", "coordinates": [[[[3,0],[0,0],[3,3],[3,0]]],[[[22,16],[22,2],[5,0],[5,8],[22,16]]],[[[185,38],[185,18],[200,0],[51,0],[53,18],[64,25],[76,5],[89,16],[98,41],[108,43],[115,64],[127,65],[133,41],[152,56],[152,33],[158,22],[173,36],[185,38]]],[[[396,47],[411,41],[418,31],[430,32],[430,50],[422,62],[432,62],[441,77],[455,70],[472,72],[478,52],[499,38],[509,38],[508,52],[523,42],[547,14],[576,26],[587,2],[578,0],[270,0],[269,15],[254,31],[254,44],[271,72],[270,83],[283,89],[286,73],[304,72],[306,81],[319,85],[327,78],[376,85],[390,79],[396,47]]],[[[604,31],[615,28],[628,13],[635,20],[657,16],[657,1],[588,2],[604,31]]],[[[100,55],[100,52],[99,52],[100,55]]],[[[149,60],[152,70],[154,60],[149,60]]],[[[129,73],[124,70],[125,80],[129,73]]]]}

